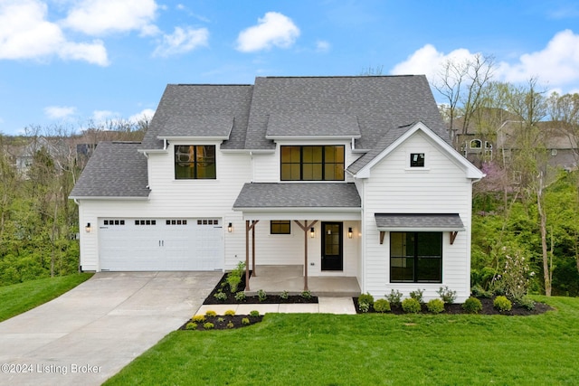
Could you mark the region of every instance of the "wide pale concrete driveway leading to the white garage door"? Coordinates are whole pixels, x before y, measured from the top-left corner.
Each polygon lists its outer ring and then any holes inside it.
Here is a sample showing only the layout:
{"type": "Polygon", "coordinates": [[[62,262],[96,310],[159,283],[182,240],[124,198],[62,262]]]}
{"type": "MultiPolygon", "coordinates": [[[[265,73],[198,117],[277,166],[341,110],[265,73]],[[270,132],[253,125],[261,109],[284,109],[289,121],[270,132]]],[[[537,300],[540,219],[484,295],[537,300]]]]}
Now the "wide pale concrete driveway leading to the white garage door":
{"type": "Polygon", "coordinates": [[[195,314],[221,272],[100,272],[0,323],[0,384],[100,385],[195,314]]]}

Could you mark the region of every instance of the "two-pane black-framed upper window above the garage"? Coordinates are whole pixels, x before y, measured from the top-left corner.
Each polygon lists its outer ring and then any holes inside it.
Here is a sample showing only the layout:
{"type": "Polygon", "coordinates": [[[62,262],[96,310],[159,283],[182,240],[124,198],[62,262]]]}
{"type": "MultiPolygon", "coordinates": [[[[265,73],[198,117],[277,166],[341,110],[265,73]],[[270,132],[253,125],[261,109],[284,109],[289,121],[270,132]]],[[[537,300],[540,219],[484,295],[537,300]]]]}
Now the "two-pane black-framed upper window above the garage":
{"type": "Polygon", "coordinates": [[[215,179],[215,146],[175,146],[176,180],[215,179]]]}

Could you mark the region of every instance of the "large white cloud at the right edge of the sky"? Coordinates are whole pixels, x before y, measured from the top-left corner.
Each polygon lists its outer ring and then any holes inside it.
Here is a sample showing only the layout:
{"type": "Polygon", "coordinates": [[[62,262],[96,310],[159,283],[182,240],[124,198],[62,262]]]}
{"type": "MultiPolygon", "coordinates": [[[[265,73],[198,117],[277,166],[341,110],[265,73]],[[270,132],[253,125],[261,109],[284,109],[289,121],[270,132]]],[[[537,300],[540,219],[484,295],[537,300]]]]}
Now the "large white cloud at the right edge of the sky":
{"type": "Polygon", "coordinates": [[[521,55],[514,64],[501,62],[498,75],[509,82],[536,78],[551,86],[579,80],[579,35],[571,30],[556,33],[545,49],[521,55]]]}

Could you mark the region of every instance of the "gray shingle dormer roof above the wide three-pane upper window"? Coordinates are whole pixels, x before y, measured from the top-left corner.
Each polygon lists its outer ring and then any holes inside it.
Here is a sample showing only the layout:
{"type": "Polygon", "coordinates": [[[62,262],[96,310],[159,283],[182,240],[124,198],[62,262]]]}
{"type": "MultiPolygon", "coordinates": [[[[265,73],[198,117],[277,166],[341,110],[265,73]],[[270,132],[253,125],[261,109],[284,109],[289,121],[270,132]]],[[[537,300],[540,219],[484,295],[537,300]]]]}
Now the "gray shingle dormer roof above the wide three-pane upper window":
{"type": "Polygon", "coordinates": [[[360,137],[356,116],[347,114],[273,114],[267,137],[360,137]]]}

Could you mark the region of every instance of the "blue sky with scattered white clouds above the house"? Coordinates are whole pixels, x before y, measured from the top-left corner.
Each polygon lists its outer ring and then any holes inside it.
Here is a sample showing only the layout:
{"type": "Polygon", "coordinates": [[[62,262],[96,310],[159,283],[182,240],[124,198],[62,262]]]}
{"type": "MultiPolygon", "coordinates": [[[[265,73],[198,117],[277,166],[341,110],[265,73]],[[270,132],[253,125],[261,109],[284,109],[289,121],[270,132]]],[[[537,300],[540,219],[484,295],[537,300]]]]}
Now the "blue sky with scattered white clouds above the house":
{"type": "Polygon", "coordinates": [[[579,92],[579,2],[0,0],[0,134],[150,118],[170,83],[435,82],[476,54],[494,58],[493,80],[579,92]]]}

